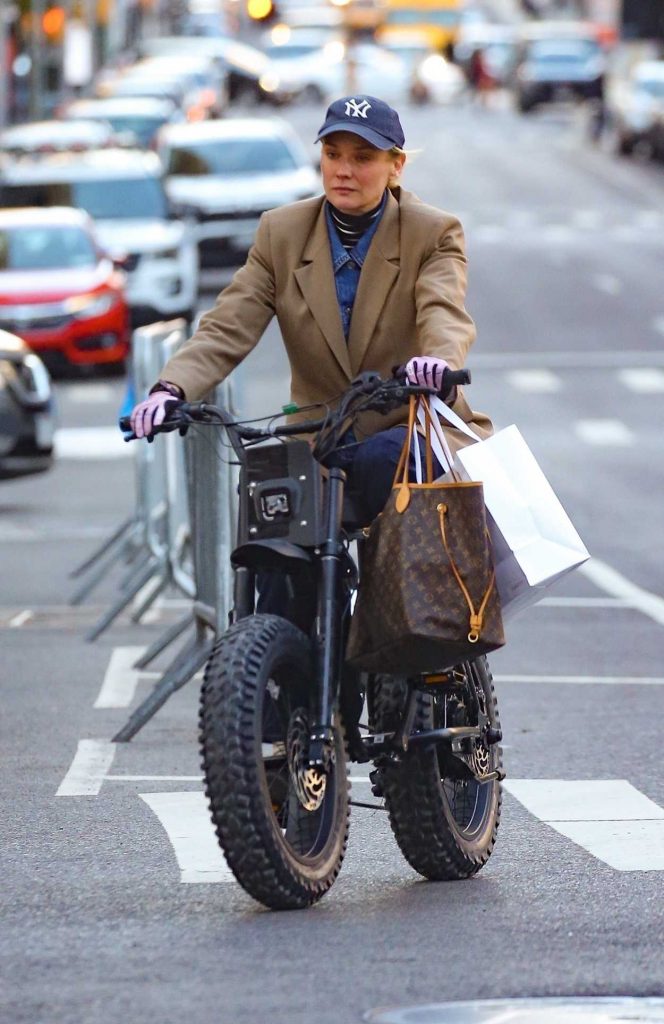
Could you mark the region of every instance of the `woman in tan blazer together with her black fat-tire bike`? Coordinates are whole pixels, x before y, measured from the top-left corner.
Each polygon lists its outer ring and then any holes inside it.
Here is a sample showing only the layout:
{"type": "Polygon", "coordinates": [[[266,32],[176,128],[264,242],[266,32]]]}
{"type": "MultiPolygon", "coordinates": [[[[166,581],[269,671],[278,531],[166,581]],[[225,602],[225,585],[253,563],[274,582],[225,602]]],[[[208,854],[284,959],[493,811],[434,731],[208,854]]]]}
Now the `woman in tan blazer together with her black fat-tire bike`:
{"type": "MultiPolygon", "coordinates": [[[[361,394],[367,371],[379,375],[378,387],[399,387],[382,378],[406,365],[412,384],[441,391],[448,365],[464,366],[474,327],[463,305],[461,225],[399,186],[404,133],[382,100],[336,100],[318,139],[325,196],[262,216],[245,266],[131,417],[134,433],[147,436],[177,398],[206,395],[274,315],[290,360],[291,399],[301,409],[293,419],[310,429],[303,407],[319,404],[325,416],[339,406],[339,444],[334,417],[320,421],[334,424],[334,443],[318,450],[330,467],[325,540],[313,550],[288,545],[289,567],[281,570],[265,560],[269,542],[241,540],[232,562],[250,580],[243,589],[236,574],[232,625],[216,639],[201,693],[201,753],[219,842],[247,892],[276,908],[310,905],[338,874],[348,835],[348,756],[373,761],[373,793],[384,797],[404,855],[426,878],[478,871],[500,816],[499,718],[486,659],[425,680],[365,680],[342,655],[354,585],[335,498],[343,474],[331,467],[345,471],[357,519],[368,525],[388,497],[408,419],[408,406],[374,403],[372,412],[365,401],[345,429],[345,402],[361,394]]],[[[491,432],[460,391],[447,400],[475,433],[491,432]]],[[[242,428],[234,429],[238,443],[242,428]]],[[[453,445],[467,442],[449,433],[453,445]]],[[[246,456],[241,463],[240,501],[247,503],[246,456]]]]}

